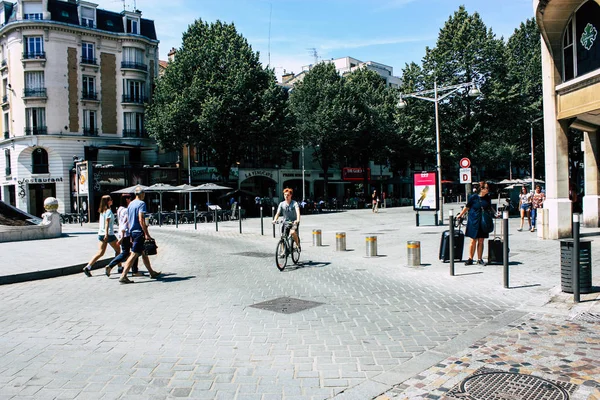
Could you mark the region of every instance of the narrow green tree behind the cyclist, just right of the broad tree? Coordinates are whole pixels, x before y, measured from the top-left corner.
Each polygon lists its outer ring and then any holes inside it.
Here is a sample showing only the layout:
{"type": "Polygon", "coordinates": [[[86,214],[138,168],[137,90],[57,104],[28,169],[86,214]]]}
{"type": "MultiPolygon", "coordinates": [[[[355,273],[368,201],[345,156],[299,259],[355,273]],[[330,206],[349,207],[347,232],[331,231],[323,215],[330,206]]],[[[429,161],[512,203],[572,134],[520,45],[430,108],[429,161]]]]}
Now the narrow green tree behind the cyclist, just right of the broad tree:
{"type": "Polygon", "coordinates": [[[339,160],[339,149],[347,143],[348,96],[340,74],[331,63],[315,65],[297,83],[290,95],[296,131],[304,146],[314,149],[323,170],[327,199],[328,171],[339,160]]]}

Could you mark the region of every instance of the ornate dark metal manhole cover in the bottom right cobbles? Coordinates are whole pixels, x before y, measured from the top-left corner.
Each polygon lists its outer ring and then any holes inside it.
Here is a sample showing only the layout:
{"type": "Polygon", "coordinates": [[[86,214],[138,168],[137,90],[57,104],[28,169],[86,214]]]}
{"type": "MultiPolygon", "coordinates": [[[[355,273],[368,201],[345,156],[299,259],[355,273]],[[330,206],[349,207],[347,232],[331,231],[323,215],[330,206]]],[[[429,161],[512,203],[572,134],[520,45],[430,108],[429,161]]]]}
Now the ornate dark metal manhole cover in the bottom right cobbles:
{"type": "Polygon", "coordinates": [[[450,390],[445,399],[568,400],[577,385],[533,375],[480,368],[450,390]]]}

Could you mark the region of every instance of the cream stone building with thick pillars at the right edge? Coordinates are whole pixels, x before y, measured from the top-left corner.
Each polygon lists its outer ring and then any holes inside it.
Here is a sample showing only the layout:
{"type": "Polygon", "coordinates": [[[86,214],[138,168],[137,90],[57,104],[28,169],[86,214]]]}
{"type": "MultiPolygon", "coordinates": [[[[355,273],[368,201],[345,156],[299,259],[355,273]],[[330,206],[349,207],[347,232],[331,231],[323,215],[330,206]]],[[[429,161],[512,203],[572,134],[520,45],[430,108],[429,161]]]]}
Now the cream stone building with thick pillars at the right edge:
{"type": "Polygon", "coordinates": [[[571,235],[570,192],[583,190],[582,222],[593,227],[600,222],[600,5],[594,0],[534,0],[533,7],[542,35],[544,208],[548,237],[556,239],[571,235]],[[583,142],[574,142],[581,132],[583,142]],[[572,162],[581,150],[583,174],[572,162]]]}

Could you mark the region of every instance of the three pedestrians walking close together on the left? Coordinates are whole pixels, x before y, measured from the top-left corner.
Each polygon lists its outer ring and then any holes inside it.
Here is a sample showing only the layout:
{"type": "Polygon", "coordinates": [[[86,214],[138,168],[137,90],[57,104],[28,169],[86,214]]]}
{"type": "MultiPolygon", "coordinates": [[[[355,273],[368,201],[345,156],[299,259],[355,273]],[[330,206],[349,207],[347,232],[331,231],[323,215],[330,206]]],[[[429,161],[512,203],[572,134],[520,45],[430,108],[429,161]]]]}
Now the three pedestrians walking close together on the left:
{"type": "Polygon", "coordinates": [[[121,277],[119,282],[127,284],[133,283],[127,277],[129,270],[132,270],[134,275],[138,275],[138,258],[141,256],[144,266],[150,274],[150,278],[156,279],[160,276],[160,271],[154,271],[150,264],[150,259],[144,251],[146,240],[152,240],[148,232],[146,224],[146,203],[144,203],[145,193],[141,186],[135,188],[135,200],[131,200],[130,194],[121,196],[121,206],[117,210],[119,219],[119,238],[114,234],[115,215],[111,210],[112,198],[109,195],[102,196],[100,200],[99,227],[98,227],[98,252],[92,257],[90,262],[83,268],[83,272],[88,276],[92,276],[92,267],[102,257],[106,251],[108,244],[115,251],[115,258],[106,266],[105,274],[110,277],[112,268],[116,265],[121,265],[125,262],[123,268],[119,268],[121,277]],[[120,245],[120,248],[119,248],[120,245]]]}

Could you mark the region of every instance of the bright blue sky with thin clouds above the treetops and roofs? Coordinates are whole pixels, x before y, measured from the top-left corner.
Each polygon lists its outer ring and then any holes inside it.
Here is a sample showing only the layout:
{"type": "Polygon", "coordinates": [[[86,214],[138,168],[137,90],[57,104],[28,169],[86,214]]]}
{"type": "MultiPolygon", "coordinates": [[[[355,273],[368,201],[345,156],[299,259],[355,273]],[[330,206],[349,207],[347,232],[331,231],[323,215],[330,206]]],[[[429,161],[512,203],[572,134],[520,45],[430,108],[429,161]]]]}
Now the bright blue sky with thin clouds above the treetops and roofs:
{"type": "Polygon", "coordinates": [[[533,17],[532,0],[90,0],[99,8],[142,11],[154,20],[160,59],[196,19],[234,23],[263,65],[299,73],[315,60],[350,56],[394,68],[421,63],[427,46],[464,5],[479,13],[497,37],[508,39],[533,17]]]}

